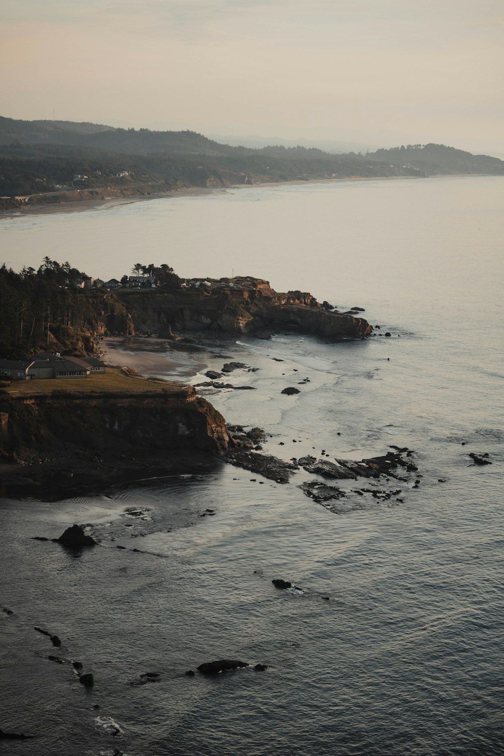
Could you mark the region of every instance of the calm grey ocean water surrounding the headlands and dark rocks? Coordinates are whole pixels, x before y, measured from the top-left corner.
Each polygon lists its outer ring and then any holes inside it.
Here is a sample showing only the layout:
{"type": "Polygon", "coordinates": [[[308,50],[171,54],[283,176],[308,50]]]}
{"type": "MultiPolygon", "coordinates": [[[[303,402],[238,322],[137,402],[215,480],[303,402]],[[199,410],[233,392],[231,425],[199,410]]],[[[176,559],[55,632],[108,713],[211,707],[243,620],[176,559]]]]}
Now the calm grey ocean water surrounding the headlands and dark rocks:
{"type": "Polygon", "coordinates": [[[190,352],[156,339],[107,349],[192,383],[230,355],[258,368],[230,383],[255,390],[200,390],[230,423],[264,428],[265,452],[358,460],[407,446],[419,480],[392,482],[401,494],[385,502],[341,482],[347,496],[323,507],[298,488],[313,478],[302,469],[277,485],[222,464],[56,504],[2,500],[0,603],[14,614],[0,612],[0,727],[36,736],[9,753],[504,751],[503,195],[493,177],[350,181],[2,219],[20,264],[48,253],[119,277],[138,260],[169,262],[366,308],[381,325],[366,341],[280,333],[190,352]],[[100,547],[76,557],[30,540],[73,522],[100,547]],[[57,634],[59,651],[34,626],[57,634]],[[185,676],[216,658],[268,669],[185,676]],[[140,684],[146,672],[156,682],[140,684]]]}

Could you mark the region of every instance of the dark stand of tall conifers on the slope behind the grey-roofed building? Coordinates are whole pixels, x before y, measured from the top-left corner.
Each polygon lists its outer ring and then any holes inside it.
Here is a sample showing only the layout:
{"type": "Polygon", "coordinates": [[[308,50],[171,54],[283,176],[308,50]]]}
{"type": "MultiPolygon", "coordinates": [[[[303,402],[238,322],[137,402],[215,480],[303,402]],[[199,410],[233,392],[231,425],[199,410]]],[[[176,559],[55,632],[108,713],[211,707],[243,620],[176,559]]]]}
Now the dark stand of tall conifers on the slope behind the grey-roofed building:
{"type": "Polygon", "coordinates": [[[127,323],[124,306],[110,293],[80,290],[85,277],[70,263],[45,257],[38,270],[0,267],[0,358],[26,359],[33,352],[79,353],[92,344],[100,324],[127,323]]]}

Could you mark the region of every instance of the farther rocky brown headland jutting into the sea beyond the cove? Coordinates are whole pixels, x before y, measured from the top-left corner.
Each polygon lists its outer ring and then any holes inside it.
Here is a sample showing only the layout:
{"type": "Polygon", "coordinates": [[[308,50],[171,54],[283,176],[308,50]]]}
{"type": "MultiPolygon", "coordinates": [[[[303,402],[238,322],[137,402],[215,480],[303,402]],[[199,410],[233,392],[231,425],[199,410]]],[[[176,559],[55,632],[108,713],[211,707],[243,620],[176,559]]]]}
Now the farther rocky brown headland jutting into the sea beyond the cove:
{"type": "Polygon", "coordinates": [[[172,330],[256,333],[276,328],[314,333],[329,339],[360,339],[372,328],[363,318],[329,311],[306,292],[277,293],[252,277],[210,281],[169,293],[119,293],[136,330],[169,337],[172,330]]]}

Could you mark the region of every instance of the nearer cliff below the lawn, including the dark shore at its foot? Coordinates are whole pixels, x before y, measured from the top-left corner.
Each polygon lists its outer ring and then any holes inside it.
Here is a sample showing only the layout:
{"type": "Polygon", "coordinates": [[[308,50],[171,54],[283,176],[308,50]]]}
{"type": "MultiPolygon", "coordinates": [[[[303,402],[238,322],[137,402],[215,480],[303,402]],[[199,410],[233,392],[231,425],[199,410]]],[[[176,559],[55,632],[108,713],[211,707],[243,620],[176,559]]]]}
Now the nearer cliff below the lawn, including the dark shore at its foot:
{"type": "Polygon", "coordinates": [[[212,404],[190,386],[135,383],[145,388],[2,394],[3,494],[60,498],[135,479],[139,472],[162,475],[215,466],[229,435],[212,404]]]}

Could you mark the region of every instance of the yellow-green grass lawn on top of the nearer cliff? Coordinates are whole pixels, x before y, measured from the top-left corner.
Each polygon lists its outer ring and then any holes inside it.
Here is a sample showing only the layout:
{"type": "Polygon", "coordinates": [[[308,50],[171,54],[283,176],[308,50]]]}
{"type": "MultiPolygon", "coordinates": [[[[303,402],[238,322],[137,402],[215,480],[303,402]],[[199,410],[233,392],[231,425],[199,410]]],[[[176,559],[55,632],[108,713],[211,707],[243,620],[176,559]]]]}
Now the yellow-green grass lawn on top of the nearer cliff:
{"type": "Polygon", "coordinates": [[[3,389],[2,393],[12,397],[29,397],[62,394],[93,395],[107,392],[113,394],[168,393],[173,395],[187,393],[187,388],[181,383],[135,378],[128,376],[120,367],[107,367],[106,373],[95,373],[94,375],[90,373],[86,378],[13,381],[11,386],[3,389]]]}

